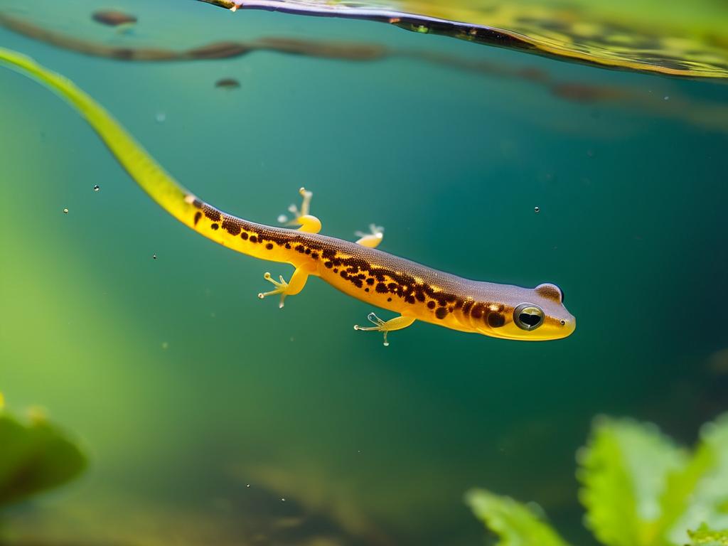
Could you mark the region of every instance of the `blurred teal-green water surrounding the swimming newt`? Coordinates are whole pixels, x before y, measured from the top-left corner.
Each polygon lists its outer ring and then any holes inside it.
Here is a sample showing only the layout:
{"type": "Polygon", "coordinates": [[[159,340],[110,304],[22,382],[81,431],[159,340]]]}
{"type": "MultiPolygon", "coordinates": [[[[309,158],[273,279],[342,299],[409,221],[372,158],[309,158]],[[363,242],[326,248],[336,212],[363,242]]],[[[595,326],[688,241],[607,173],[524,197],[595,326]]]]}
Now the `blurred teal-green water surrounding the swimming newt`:
{"type": "Polygon", "coordinates": [[[256,294],[285,266],[176,223],[71,108],[3,69],[0,391],[47,408],[92,454],[78,483],[15,510],[13,539],[480,544],[462,494],[483,486],[590,544],[573,474],[593,416],[692,442],[726,409],[725,371],[708,365],[728,347],[724,85],[361,21],[124,0],[140,23],[123,33],[81,1],[23,4],[7,9],[111,44],[347,39],[650,98],[564,100],[421,58],[124,63],[0,28],[2,47],[76,82],[207,202],[274,223],[306,186],[325,234],[379,223],[388,252],[555,282],[577,317],[561,341],[416,324],[384,348],[352,329],[373,309],[323,282],[281,311],[256,294]],[[240,88],[215,88],[223,77],[240,88]]]}

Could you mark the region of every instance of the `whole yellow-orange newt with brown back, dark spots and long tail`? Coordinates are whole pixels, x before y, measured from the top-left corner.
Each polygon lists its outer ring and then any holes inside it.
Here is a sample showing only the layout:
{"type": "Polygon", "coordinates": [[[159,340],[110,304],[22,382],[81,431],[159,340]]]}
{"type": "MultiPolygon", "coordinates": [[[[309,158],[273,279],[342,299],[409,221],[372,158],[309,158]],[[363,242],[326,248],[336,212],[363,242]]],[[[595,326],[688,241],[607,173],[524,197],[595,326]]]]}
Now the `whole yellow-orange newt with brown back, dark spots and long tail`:
{"type": "Polygon", "coordinates": [[[387,333],[417,320],[522,341],[561,339],[576,328],[557,285],[522,288],[440,272],[376,249],[383,237],[376,226],[356,242],[320,234],[321,222],[309,210],[312,192],[304,188],[300,190],[301,208],[289,209],[294,217],[286,226],[268,226],[224,213],[175,181],[111,114],[73,82],[9,50],[0,48],[0,61],[68,100],[131,178],[178,221],[226,248],[293,266],[288,281],[282,276],[274,280],[266,273],[264,278],[273,289],[259,293],[260,298],[280,296],[283,307],[285,298],[300,293],[309,277],[320,277],[349,296],[397,314],[382,320],[370,313],[371,325],[354,327],[383,333],[385,346],[387,333]]]}

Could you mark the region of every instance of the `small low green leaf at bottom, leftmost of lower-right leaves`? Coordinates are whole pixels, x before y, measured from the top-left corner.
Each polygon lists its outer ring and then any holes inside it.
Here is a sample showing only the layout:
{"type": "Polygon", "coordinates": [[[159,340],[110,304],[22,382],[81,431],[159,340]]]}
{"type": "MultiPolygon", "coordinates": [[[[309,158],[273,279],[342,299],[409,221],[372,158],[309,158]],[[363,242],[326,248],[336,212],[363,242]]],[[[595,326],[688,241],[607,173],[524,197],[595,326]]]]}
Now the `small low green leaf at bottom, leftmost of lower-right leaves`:
{"type": "Polygon", "coordinates": [[[569,546],[534,510],[508,496],[472,489],[465,502],[498,535],[498,546],[569,546]]]}

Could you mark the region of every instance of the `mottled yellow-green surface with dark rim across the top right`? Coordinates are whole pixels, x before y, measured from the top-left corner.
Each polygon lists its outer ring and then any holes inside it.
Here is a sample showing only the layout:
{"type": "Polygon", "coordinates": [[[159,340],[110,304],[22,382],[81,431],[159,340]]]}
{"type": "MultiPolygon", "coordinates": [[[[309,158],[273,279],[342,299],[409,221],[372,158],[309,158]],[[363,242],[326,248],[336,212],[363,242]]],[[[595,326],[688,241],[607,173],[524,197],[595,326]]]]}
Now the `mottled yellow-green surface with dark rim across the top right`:
{"type": "Polygon", "coordinates": [[[419,33],[673,76],[728,77],[728,8],[716,0],[202,0],[377,20],[419,33]]]}

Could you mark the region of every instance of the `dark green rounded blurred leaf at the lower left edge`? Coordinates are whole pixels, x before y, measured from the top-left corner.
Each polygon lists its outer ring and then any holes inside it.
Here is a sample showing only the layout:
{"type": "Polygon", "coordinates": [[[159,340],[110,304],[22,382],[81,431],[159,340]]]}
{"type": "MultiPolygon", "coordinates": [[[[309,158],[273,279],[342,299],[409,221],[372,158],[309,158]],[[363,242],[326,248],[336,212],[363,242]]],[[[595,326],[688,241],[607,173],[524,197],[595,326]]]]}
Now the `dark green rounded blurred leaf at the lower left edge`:
{"type": "Polygon", "coordinates": [[[87,464],[76,441],[38,411],[23,421],[0,400],[0,507],[60,486],[87,464]]]}

